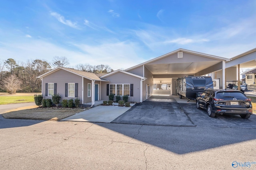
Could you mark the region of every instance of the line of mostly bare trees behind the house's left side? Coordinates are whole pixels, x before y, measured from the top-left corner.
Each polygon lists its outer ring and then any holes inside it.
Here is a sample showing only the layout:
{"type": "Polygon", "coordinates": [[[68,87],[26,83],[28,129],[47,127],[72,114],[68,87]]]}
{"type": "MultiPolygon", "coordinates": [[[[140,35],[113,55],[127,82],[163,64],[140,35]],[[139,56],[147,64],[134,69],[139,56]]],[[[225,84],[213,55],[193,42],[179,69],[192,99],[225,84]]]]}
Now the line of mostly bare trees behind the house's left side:
{"type": "MultiPolygon", "coordinates": [[[[52,63],[36,59],[28,60],[26,63],[18,63],[14,59],[0,61],[0,92],[41,92],[42,81],[40,76],[58,66],[72,68],[69,66],[66,57],[55,56],[52,63]]],[[[90,64],[77,64],[76,70],[92,73],[109,73],[114,71],[110,66],[100,64],[92,66],[90,64]]]]}

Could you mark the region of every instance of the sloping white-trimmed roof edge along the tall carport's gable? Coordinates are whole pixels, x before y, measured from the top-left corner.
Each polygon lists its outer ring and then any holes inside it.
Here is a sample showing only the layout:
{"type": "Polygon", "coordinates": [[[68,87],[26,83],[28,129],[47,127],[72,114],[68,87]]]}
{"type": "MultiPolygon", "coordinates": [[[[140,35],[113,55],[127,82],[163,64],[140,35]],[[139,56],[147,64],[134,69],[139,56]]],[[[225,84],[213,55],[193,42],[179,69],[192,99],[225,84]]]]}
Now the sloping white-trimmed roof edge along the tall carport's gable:
{"type": "Polygon", "coordinates": [[[218,57],[218,56],[215,56],[215,55],[209,55],[209,54],[205,54],[205,53],[199,53],[199,52],[196,52],[196,51],[191,51],[191,50],[186,50],[186,49],[177,49],[177,50],[172,51],[172,52],[170,52],[170,53],[161,55],[160,57],[156,57],[156,58],[154,58],[154,59],[152,59],[152,60],[149,60],[149,61],[146,61],[146,62],[144,62],[144,63],[138,64],[138,65],[136,65],[136,66],[127,68],[127,69],[125,69],[125,71],[132,70],[132,69],[137,68],[137,67],[139,67],[139,66],[143,66],[144,64],[148,64],[148,63],[151,63],[151,62],[153,62],[153,61],[162,59],[162,58],[164,58],[164,57],[167,57],[167,56],[172,55],[172,54],[177,53],[177,52],[192,53],[192,54],[200,55],[200,56],[203,56],[203,57],[209,57],[209,58],[218,59],[218,60],[222,60],[222,61],[230,61],[230,59],[227,59],[227,58],[224,58],[224,57],[218,57]]]}

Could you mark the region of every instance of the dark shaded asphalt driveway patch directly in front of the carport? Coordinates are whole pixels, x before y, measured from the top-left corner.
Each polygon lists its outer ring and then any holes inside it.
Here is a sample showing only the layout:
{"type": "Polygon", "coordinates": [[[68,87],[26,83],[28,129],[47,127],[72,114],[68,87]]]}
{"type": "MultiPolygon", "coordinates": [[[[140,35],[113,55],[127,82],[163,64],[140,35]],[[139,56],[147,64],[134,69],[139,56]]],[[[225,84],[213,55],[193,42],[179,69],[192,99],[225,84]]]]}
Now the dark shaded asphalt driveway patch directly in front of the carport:
{"type": "Polygon", "coordinates": [[[111,123],[162,126],[196,126],[184,113],[178,103],[148,102],[137,103],[111,123]]]}

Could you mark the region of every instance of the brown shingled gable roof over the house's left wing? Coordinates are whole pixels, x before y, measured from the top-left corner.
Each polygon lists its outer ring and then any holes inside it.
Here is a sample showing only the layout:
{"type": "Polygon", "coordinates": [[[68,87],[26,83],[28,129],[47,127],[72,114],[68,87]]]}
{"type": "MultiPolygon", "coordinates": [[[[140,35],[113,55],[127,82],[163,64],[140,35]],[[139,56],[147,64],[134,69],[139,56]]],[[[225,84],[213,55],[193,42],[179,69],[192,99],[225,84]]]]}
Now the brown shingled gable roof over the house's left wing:
{"type": "Polygon", "coordinates": [[[72,69],[72,68],[65,68],[65,67],[54,68],[54,69],[52,69],[52,70],[50,70],[50,71],[48,71],[48,72],[38,76],[37,78],[42,78],[42,77],[47,76],[47,75],[49,75],[49,74],[51,74],[51,73],[53,73],[53,72],[55,72],[57,70],[60,70],[60,69],[66,70],[66,71],[71,72],[73,74],[76,74],[78,76],[82,76],[82,77],[87,78],[89,80],[97,80],[97,81],[108,82],[108,80],[106,80],[104,78],[100,78],[100,77],[96,76],[96,74],[94,74],[92,72],[85,72],[85,71],[80,71],[80,70],[75,70],[75,69],[72,69]]]}

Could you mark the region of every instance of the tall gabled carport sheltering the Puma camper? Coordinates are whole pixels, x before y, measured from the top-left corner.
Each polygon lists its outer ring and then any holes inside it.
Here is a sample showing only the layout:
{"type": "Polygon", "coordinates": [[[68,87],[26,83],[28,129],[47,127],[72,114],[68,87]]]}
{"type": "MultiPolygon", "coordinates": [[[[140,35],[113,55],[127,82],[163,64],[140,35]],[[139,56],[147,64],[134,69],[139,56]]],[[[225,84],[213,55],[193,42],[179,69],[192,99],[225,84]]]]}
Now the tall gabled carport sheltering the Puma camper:
{"type": "Polygon", "coordinates": [[[214,72],[220,71],[222,74],[214,75],[214,78],[222,79],[220,86],[225,86],[225,64],[226,59],[214,55],[199,53],[186,49],[178,49],[138,64],[126,71],[138,74],[143,69],[142,101],[154,94],[175,95],[175,80],[184,76],[212,76],[214,72]]]}

